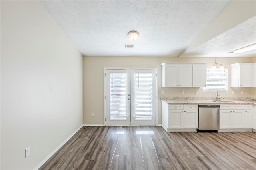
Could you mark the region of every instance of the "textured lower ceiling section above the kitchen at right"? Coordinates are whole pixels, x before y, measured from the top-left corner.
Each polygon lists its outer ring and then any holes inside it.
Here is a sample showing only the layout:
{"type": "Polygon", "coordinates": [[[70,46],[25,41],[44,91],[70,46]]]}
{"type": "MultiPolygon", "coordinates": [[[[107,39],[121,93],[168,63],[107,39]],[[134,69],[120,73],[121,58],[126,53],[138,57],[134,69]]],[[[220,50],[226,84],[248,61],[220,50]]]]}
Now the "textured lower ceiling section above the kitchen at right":
{"type": "MultiPolygon", "coordinates": [[[[201,44],[184,57],[240,57],[241,54],[230,53],[235,49],[252,45],[256,40],[256,17],[223,32],[208,42],[201,44]],[[228,51],[228,52],[227,52],[228,51]]],[[[243,57],[255,57],[255,50],[242,54],[243,57]]]]}

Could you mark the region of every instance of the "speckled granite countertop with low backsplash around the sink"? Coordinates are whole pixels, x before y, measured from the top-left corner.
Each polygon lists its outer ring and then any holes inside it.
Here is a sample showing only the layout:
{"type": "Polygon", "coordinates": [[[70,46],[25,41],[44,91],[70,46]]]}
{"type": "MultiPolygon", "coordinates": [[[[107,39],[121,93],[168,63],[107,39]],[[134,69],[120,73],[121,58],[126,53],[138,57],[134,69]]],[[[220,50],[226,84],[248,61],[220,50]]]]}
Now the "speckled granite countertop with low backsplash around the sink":
{"type": "Polygon", "coordinates": [[[202,97],[202,98],[194,98],[194,97],[162,97],[161,101],[164,101],[168,104],[198,104],[198,105],[220,105],[220,104],[254,104],[256,105],[256,100],[252,98],[224,98],[220,99],[220,101],[214,101],[214,98],[207,98],[207,97],[202,97]],[[225,102],[223,102],[225,101],[225,102]]]}

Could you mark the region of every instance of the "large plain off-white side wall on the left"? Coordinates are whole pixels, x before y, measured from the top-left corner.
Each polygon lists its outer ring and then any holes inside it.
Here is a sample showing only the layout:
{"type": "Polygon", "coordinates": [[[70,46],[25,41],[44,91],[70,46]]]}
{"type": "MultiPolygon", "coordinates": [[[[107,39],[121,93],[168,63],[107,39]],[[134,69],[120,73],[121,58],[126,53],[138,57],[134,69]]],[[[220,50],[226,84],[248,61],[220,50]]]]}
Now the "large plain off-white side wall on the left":
{"type": "Polygon", "coordinates": [[[35,168],[82,125],[82,69],[40,1],[1,1],[1,169],[35,168]]]}

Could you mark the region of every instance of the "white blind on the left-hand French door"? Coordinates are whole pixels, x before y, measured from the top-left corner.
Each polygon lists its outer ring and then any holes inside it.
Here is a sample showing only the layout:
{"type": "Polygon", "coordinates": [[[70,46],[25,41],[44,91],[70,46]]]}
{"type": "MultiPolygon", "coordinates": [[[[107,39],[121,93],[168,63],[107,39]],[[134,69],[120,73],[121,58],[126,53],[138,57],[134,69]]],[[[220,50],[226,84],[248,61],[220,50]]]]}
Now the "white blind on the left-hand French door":
{"type": "Polygon", "coordinates": [[[127,73],[110,73],[110,119],[126,119],[127,73]]]}

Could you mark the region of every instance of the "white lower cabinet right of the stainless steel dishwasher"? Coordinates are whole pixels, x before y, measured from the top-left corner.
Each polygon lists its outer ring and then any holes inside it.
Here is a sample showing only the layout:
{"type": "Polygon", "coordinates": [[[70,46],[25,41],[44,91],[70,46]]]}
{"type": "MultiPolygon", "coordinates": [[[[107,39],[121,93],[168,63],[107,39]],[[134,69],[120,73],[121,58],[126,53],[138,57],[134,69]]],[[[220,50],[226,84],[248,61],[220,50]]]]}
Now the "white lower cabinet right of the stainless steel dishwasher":
{"type": "Polygon", "coordinates": [[[252,128],[252,105],[220,105],[220,129],[252,128]]]}

